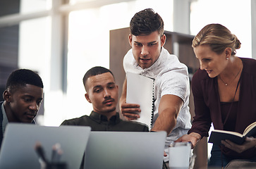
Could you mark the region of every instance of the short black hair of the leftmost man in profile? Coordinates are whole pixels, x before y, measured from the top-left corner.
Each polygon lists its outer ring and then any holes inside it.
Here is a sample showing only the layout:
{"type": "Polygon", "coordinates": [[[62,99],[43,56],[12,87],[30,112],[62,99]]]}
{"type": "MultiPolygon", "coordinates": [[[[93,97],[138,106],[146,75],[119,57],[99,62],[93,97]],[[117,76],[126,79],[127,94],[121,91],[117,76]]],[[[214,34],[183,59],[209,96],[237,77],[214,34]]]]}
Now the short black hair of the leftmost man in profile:
{"type": "Polygon", "coordinates": [[[6,82],[6,89],[10,92],[14,92],[19,87],[25,87],[26,84],[44,88],[42,79],[37,73],[28,69],[18,69],[14,70],[11,75],[9,75],[6,82]]]}

